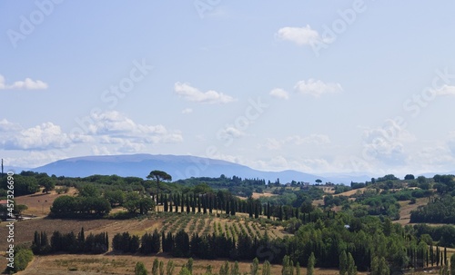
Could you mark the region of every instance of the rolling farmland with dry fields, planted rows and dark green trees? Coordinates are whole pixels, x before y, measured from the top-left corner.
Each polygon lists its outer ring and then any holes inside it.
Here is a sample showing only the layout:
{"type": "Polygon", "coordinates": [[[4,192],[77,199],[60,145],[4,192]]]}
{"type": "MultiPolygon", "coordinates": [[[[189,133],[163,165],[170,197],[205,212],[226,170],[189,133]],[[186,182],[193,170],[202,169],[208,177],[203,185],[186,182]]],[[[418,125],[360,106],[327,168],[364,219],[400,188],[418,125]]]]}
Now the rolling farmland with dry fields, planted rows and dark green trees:
{"type": "MultiPolygon", "coordinates": [[[[278,273],[285,265],[312,265],[310,254],[319,274],[332,274],[338,272],[343,253],[359,272],[375,268],[373,258],[382,262],[381,269],[387,264],[389,270],[431,272],[452,253],[442,252],[443,247],[455,246],[452,227],[401,226],[428,204],[441,204],[445,189],[440,183],[430,190],[427,185],[410,188],[393,175],[368,186],[353,184],[357,189],[296,182],[264,186],[262,180],[237,177],[158,185],[157,180],[95,175],[51,179],[58,185],[50,191],[33,182],[35,177],[43,182],[46,175],[21,177],[34,192],[17,196],[27,219],[15,223],[15,246],[31,247],[35,253],[22,274],[131,274],[136,262],[149,270],[155,259],[172,260],[178,272],[189,257],[195,258],[195,273],[204,273],[207,266],[217,272],[225,260],[238,261],[243,272],[253,260],[269,260],[271,272],[278,273]],[[398,248],[389,254],[392,243],[398,248]]],[[[444,200],[450,207],[451,199],[444,200]]],[[[6,230],[0,228],[0,234],[6,230]]],[[[5,247],[6,239],[0,245],[5,247]]]]}

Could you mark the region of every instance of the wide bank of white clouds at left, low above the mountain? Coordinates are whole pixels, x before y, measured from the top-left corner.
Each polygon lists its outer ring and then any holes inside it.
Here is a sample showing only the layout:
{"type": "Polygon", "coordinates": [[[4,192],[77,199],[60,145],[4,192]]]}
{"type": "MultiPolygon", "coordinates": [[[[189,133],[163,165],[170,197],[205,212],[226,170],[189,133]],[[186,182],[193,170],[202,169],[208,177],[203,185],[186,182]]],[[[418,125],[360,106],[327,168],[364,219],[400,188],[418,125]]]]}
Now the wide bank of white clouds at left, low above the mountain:
{"type": "Polygon", "coordinates": [[[93,114],[84,118],[84,122],[86,133],[68,134],[54,123],[24,129],[3,119],[0,121],[0,149],[45,151],[76,143],[101,143],[116,144],[119,152],[138,152],[145,144],[183,142],[179,131],[168,131],[161,124],[138,124],[115,111],[93,114]]]}

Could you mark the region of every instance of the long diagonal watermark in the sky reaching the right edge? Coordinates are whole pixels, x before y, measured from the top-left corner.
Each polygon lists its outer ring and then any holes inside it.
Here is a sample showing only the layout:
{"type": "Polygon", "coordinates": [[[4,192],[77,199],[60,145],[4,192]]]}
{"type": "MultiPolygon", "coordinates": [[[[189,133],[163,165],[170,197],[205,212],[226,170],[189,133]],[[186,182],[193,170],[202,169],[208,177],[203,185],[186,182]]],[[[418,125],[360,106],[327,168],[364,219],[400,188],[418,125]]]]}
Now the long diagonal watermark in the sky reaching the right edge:
{"type": "MultiPolygon", "coordinates": [[[[441,92],[444,87],[455,83],[455,74],[451,74],[448,67],[443,70],[435,70],[435,76],[431,80],[431,84],[422,89],[420,93],[413,93],[410,98],[402,103],[403,111],[412,119],[416,119],[424,108],[427,108],[431,102],[436,100],[438,96],[443,95],[441,92]]],[[[399,134],[408,127],[408,122],[405,115],[399,115],[393,119],[389,119],[377,131],[380,133],[369,142],[369,147],[364,146],[362,150],[362,158],[351,157],[350,162],[354,171],[361,171],[361,167],[365,167],[369,162],[377,160],[380,148],[393,148],[393,144],[397,142],[399,134]]]]}

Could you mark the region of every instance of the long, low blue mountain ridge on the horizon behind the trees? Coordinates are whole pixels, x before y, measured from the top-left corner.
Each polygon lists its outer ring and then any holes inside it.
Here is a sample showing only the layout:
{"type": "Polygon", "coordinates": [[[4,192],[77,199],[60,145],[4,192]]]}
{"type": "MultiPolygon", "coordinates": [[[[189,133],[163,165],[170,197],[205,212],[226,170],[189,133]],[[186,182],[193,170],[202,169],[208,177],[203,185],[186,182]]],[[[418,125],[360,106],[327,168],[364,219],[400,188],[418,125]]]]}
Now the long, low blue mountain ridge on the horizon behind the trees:
{"type": "Polygon", "coordinates": [[[126,154],[102,155],[69,158],[51,162],[41,167],[31,169],[35,172],[46,172],[56,176],[86,177],[93,174],[118,176],[135,176],[145,178],[152,170],[161,170],[169,173],[173,181],[191,177],[227,177],[234,175],[241,178],[259,178],[281,183],[291,181],[314,183],[317,179],[322,182],[324,177],[293,170],[281,172],[265,172],[251,169],[248,166],[234,162],[208,159],[189,155],[165,154],[126,154]]]}

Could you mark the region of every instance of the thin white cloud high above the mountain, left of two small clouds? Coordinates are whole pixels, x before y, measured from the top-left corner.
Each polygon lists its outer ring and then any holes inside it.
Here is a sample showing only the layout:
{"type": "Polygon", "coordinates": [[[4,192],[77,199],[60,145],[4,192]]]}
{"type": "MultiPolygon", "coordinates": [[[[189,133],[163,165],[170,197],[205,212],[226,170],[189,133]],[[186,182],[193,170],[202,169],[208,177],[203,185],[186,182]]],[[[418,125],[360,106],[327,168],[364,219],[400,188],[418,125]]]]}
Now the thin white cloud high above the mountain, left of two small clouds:
{"type": "Polygon", "coordinates": [[[232,96],[213,90],[203,93],[189,83],[175,83],[174,91],[187,101],[196,103],[232,103],[236,101],[232,96]]]}

